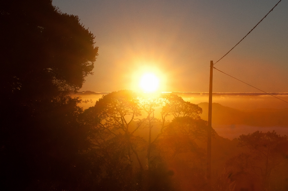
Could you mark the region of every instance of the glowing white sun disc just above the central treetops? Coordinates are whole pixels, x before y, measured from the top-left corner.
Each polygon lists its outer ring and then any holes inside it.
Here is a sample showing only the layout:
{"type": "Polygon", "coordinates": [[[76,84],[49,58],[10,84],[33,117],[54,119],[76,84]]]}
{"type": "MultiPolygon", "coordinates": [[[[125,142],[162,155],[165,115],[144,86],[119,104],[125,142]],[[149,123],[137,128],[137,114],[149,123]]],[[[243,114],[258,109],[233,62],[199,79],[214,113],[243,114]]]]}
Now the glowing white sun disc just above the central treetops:
{"type": "Polygon", "coordinates": [[[159,88],[159,78],[153,73],[145,73],[140,79],[140,87],[145,92],[154,92],[159,88]]]}

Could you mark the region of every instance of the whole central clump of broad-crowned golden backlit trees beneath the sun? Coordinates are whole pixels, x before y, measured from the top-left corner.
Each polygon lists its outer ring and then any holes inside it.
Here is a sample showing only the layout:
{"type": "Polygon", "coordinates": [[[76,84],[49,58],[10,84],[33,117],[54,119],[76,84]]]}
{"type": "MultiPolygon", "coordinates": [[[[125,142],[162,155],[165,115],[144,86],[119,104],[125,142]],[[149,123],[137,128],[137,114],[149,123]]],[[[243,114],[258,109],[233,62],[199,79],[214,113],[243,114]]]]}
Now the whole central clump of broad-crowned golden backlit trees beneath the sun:
{"type": "MultiPolygon", "coordinates": [[[[125,180],[130,180],[130,183],[122,181],[123,184],[125,183],[126,186],[130,185],[130,188],[134,187],[137,188],[137,190],[158,189],[161,184],[163,185],[160,187],[164,190],[167,190],[168,188],[170,189],[170,187],[165,187],[164,185],[168,186],[165,181],[170,181],[169,177],[171,173],[164,173],[164,171],[168,170],[161,170],[162,167],[160,168],[160,166],[165,166],[165,160],[162,160],[163,156],[161,156],[160,153],[157,153],[159,150],[156,151],[154,149],[153,160],[150,160],[152,158],[152,148],[157,147],[157,140],[164,135],[164,130],[169,124],[169,121],[167,121],[166,118],[170,115],[177,119],[187,118],[188,121],[184,120],[186,122],[184,124],[186,129],[182,127],[180,128],[182,128],[183,131],[187,129],[190,130],[190,134],[187,135],[190,136],[190,139],[195,139],[196,137],[199,138],[200,132],[205,129],[205,121],[199,118],[199,113],[201,113],[201,111],[202,109],[197,105],[185,102],[181,97],[173,94],[160,96],[150,94],[143,95],[128,90],[122,90],[104,95],[95,103],[94,107],[85,110],[83,115],[83,124],[90,129],[89,140],[91,143],[91,150],[89,152],[94,152],[98,158],[101,158],[101,161],[107,161],[111,158],[110,155],[114,153],[113,148],[111,148],[109,152],[103,151],[107,150],[105,145],[107,145],[108,142],[113,142],[115,151],[117,151],[116,153],[122,154],[113,155],[115,156],[113,157],[114,162],[107,163],[107,165],[104,165],[104,163],[98,163],[99,166],[102,166],[100,167],[102,171],[100,171],[99,180],[121,180],[125,177],[125,180]],[[155,118],[154,112],[156,108],[162,109],[162,120],[155,118]],[[152,128],[154,127],[159,129],[159,132],[153,135],[154,139],[152,139],[152,128]],[[149,128],[147,137],[143,137],[143,135],[138,135],[138,133],[136,133],[137,130],[143,128],[149,128]],[[136,135],[134,135],[135,133],[136,135]],[[125,141],[117,144],[117,141],[120,141],[120,139],[116,138],[119,136],[125,141]],[[126,147],[123,146],[125,144],[126,147]],[[119,147],[120,145],[122,145],[122,147],[119,147]],[[147,152],[147,169],[143,168],[141,163],[141,160],[143,159],[138,155],[138,153],[141,153],[144,150],[147,152]],[[132,154],[135,154],[139,163],[139,172],[137,172],[137,170],[134,172],[132,171],[132,154]],[[106,167],[104,168],[103,165],[106,167]],[[129,169],[128,171],[130,173],[127,174],[126,170],[124,173],[122,171],[124,169],[129,169]],[[115,170],[118,174],[110,173],[110,171],[114,172],[115,170]],[[156,177],[158,175],[160,176],[159,173],[164,173],[162,178],[156,177]],[[132,176],[136,174],[139,175],[137,180],[132,176]],[[158,182],[156,181],[156,184],[155,180],[158,178],[160,179],[158,182]]],[[[170,146],[171,145],[168,145],[169,148],[170,146]]],[[[104,189],[105,185],[107,186],[106,189],[109,188],[108,182],[105,184],[103,183],[102,189],[104,189]]],[[[123,186],[120,186],[120,183],[115,187],[117,187],[117,189],[124,189],[123,186]]]]}

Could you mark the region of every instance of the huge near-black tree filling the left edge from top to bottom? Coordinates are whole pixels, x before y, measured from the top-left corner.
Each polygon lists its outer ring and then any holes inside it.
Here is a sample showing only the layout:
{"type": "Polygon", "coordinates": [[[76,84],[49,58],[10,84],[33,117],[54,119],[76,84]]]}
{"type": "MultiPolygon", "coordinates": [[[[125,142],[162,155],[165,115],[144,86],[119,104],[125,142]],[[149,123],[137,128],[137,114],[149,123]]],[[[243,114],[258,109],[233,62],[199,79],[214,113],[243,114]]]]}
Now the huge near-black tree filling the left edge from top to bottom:
{"type": "Polygon", "coordinates": [[[51,0],[0,1],[0,25],[0,187],[75,190],[89,142],[69,93],[92,73],[94,36],[51,0]]]}

